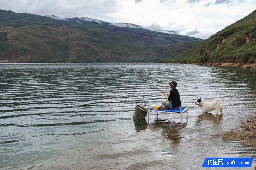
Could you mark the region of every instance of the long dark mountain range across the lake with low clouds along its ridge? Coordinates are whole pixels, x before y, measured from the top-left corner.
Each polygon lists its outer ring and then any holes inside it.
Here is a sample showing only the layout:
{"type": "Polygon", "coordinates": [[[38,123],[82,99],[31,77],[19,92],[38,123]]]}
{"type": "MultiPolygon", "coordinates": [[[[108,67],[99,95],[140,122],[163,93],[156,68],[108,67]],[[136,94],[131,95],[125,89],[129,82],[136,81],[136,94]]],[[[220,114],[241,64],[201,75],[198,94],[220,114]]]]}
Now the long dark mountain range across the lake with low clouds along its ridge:
{"type": "Polygon", "coordinates": [[[0,62],[121,62],[174,56],[201,39],[87,17],[60,18],[0,10],[0,62]],[[89,44],[89,46],[87,45],[89,44]]]}

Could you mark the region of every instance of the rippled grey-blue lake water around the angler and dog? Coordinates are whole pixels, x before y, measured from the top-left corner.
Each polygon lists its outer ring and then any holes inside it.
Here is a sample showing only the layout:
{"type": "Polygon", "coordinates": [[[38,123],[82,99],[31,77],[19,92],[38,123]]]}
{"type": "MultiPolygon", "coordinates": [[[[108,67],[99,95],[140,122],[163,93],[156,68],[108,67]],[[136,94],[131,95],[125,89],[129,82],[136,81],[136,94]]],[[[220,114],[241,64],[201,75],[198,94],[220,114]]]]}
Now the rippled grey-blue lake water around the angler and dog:
{"type": "Polygon", "coordinates": [[[166,92],[176,80],[188,123],[163,113],[134,121],[142,95],[147,105],[164,96],[114,63],[0,64],[0,169],[199,170],[205,157],[256,158],[255,145],[221,137],[256,114],[256,72],[124,65],[166,92]],[[224,115],[202,114],[197,96],[221,98],[224,115]]]}

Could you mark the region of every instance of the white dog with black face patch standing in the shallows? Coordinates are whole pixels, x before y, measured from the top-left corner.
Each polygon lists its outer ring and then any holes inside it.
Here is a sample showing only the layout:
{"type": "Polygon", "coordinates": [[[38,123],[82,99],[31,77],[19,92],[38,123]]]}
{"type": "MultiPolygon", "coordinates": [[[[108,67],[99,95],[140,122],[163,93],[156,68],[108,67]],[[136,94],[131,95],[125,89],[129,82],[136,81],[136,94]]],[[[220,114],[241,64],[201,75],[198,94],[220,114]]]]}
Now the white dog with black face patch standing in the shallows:
{"type": "Polygon", "coordinates": [[[218,115],[219,112],[223,114],[223,104],[219,98],[215,98],[213,101],[204,101],[201,97],[197,97],[195,104],[201,107],[203,112],[215,110],[215,115],[218,115]]]}

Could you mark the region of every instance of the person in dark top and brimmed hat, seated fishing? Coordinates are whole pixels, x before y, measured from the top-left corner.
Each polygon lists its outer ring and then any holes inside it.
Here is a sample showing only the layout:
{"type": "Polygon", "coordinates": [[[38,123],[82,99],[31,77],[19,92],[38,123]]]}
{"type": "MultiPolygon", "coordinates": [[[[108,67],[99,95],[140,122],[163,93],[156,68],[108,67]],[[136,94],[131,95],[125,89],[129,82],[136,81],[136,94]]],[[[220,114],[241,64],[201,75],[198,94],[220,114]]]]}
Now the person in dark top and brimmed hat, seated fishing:
{"type": "Polygon", "coordinates": [[[163,110],[180,110],[181,107],[181,100],[179,91],[176,89],[177,82],[172,81],[169,82],[171,90],[170,95],[163,93],[163,95],[167,98],[166,101],[162,101],[163,106],[160,109],[163,110]]]}

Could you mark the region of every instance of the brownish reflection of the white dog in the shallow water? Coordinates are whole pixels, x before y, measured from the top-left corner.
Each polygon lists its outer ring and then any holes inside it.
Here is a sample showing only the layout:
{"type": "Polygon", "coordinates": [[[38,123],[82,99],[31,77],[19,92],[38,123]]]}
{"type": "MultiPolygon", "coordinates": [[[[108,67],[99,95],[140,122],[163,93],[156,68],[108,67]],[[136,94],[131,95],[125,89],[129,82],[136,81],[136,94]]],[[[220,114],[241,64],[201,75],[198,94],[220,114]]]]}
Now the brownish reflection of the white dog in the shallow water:
{"type": "Polygon", "coordinates": [[[222,118],[223,118],[223,114],[219,115],[219,116],[215,116],[211,113],[208,113],[208,112],[204,112],[202,114],[200,114],[198,116],[198,120],[195,121],[195,125],[196,126],[200,126],[201,125],[201,122],[204,121],[204,120],[210,120],[212,121],[215,125],[219,125],[222,121],[222,118]]]}

